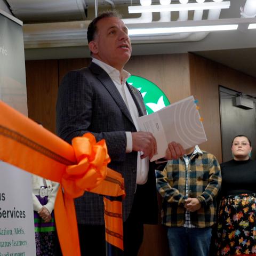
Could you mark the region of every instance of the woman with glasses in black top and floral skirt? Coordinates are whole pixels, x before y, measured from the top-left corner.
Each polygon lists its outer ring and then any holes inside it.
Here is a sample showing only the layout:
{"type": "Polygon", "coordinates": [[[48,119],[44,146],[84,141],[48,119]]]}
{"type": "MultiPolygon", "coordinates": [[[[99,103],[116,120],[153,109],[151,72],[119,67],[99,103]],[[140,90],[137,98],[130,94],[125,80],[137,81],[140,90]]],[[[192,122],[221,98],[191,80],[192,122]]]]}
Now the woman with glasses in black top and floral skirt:
{"type": "Polygon", "coordinates": [[[231,150],[234,158],[220,165],[217,255],[256,255],[256,162],[250,158],[250,139],[237,135],[231,150]]]}

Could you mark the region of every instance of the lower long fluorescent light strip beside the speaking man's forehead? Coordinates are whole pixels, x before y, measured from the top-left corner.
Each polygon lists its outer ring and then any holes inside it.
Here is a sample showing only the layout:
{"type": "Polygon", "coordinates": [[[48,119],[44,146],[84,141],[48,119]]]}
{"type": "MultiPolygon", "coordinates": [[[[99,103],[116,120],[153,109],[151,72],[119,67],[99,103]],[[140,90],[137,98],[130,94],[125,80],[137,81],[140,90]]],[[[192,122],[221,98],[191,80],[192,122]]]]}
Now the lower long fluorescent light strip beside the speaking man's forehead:
{"type": "Polygon", "coordinates": [[[157,34],[171,34],[183,32],[201,32],[201,31],[218,31],[218,30],[235,30],[238,28],[234,25],[214,25],[214,26],[195,26],[195,27],[172,27],[172,28],[139,28],[129,29],[130,36],[138,35],[157,35],[157,34]]]}

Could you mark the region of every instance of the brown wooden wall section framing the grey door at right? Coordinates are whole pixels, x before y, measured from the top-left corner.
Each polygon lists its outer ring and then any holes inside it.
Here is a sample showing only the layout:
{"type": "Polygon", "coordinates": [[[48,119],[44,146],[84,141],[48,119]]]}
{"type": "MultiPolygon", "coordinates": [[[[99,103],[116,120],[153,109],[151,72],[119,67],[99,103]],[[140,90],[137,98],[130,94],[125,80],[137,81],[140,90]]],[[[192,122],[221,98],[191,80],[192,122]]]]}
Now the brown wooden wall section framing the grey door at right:
{"type": "Polygon", "coordinates": [[[199,112],[204,118],[208,139],[201,147],[222,162],[219,85],[244,93],[256,93],[256,78],[191,53],[189,70],[191,94],[199,101],[199,112]]]}

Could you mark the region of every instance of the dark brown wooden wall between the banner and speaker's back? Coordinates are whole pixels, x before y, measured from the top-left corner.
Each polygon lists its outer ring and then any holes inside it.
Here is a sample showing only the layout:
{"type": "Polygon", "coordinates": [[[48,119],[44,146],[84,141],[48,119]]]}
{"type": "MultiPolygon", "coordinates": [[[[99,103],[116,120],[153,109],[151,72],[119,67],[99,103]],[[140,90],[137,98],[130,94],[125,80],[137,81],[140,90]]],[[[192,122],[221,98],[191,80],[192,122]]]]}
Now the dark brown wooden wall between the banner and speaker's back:
{"type": "Polygon", "coordinates": [[[55,133],[55,101],[58,92],[58,61],[26,61],[28,117],[55,133]]]}

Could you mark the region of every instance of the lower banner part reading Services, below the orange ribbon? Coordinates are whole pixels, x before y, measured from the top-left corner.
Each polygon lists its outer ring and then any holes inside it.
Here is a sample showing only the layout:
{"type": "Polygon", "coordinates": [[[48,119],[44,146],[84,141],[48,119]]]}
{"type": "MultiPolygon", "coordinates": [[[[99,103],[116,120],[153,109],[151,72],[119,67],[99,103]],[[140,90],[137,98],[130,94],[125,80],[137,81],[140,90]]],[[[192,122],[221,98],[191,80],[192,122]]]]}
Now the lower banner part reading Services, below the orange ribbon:
{"type": "Polygon", "coordinates": [[[0,162],[0,256],[34,256],[31,174],[0,162]]]}

